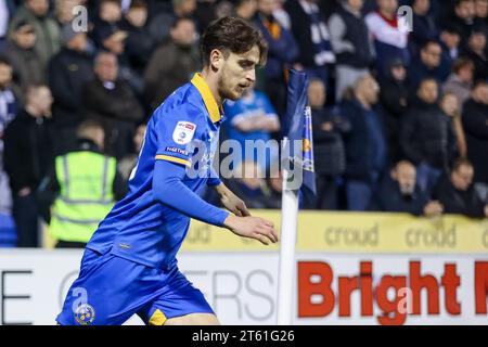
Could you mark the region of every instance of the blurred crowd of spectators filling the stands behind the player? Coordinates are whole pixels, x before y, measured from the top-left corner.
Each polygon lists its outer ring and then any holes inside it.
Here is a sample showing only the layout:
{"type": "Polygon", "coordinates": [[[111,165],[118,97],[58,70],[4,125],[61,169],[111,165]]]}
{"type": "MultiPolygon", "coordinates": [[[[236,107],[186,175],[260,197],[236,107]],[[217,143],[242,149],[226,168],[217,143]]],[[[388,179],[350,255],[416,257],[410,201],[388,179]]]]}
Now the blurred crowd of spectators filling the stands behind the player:
{"type": "MultiPolygon", "coordinates": [[[[0,0],[0,244],[10,229],[39,246],[44,220],[77,245],[68,229],[105,211],[84,204],[124,196],[145,121],[226,15],[269,53],[224,104],[221,141],[281,139],[287,69],[309,76],[318,197],[304,208],[488,217],[488,0],[0,0]]],[[[279,175],[255,175],[274,152],[245,153],[227,182],[251,208],[280,207],[279,175]]]]}

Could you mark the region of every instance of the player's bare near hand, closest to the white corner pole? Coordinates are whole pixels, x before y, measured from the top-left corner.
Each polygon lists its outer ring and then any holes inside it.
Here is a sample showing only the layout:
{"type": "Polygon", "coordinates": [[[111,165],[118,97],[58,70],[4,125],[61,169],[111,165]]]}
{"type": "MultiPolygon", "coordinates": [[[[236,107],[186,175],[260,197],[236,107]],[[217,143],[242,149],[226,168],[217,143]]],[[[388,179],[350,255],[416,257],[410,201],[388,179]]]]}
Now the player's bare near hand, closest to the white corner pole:
{"type": "Polygon", "coordinates": [[[223,221],[223,226],[236,235],[258,240],[265,245],[278,242],[273,222],[259,217],[229,215],[223,221]]]}

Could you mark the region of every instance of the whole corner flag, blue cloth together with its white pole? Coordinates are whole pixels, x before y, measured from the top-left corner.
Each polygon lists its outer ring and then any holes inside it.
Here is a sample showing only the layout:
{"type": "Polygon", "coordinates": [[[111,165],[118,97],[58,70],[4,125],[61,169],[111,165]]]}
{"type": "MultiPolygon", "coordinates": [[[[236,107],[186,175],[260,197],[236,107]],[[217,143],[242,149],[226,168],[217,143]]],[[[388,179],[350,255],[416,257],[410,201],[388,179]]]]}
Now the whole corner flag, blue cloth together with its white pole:
{"type": "Polygon", "coordinates": [[[281,247],[278,280],[278,324],[292,323],[296,262],[296,230],[298,222],[298,192],[304,196],[316,194],[313,172],[313,139],[311,112],[308,106],[308,78],[303,72],[290,70],[288,99],[285,117],[285,160],[281,207],[281,247]],[[298,145],[296,145],[298,144],[298,145]],[[292,168],[293,167],[293,168],[292,168]],[[298,174],[299,184],[296,183],[298,174]]]}

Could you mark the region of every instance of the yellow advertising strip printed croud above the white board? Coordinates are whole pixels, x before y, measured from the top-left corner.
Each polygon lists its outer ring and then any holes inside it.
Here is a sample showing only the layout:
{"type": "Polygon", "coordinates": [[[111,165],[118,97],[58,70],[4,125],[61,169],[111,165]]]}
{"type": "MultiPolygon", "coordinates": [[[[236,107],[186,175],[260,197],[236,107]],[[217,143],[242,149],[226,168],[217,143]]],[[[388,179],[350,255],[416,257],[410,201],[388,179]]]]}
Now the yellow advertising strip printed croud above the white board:
{"type": "MultiPolygon", "coordinates": [[[[254,210],[280,231],[279,210],[254,210]]],[[[192,221],[182,246],[187,252],[266,252],[262,245],[228,230],[192,221]]],[[[416,218],[407,214],[300,211],[298,252],[330,253],[488,253],[488,219],[461,216],[416,218]]]]}

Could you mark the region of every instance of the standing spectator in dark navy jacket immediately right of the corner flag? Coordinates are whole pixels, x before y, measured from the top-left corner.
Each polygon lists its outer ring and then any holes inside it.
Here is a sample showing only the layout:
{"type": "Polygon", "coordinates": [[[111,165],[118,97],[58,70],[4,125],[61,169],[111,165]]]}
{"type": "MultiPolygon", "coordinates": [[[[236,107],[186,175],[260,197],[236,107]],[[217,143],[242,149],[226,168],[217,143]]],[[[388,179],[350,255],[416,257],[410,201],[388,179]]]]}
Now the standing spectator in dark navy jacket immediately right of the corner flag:
{"type": "Polygon", "coordinates": [[[338,209],[338,183],[346,170],[343,134],[350,130],[341,115],[324,108],[325,86],[311,79],[308,100],[312,114],[314,169],[317,177],[317,209],[338,209]]]}

